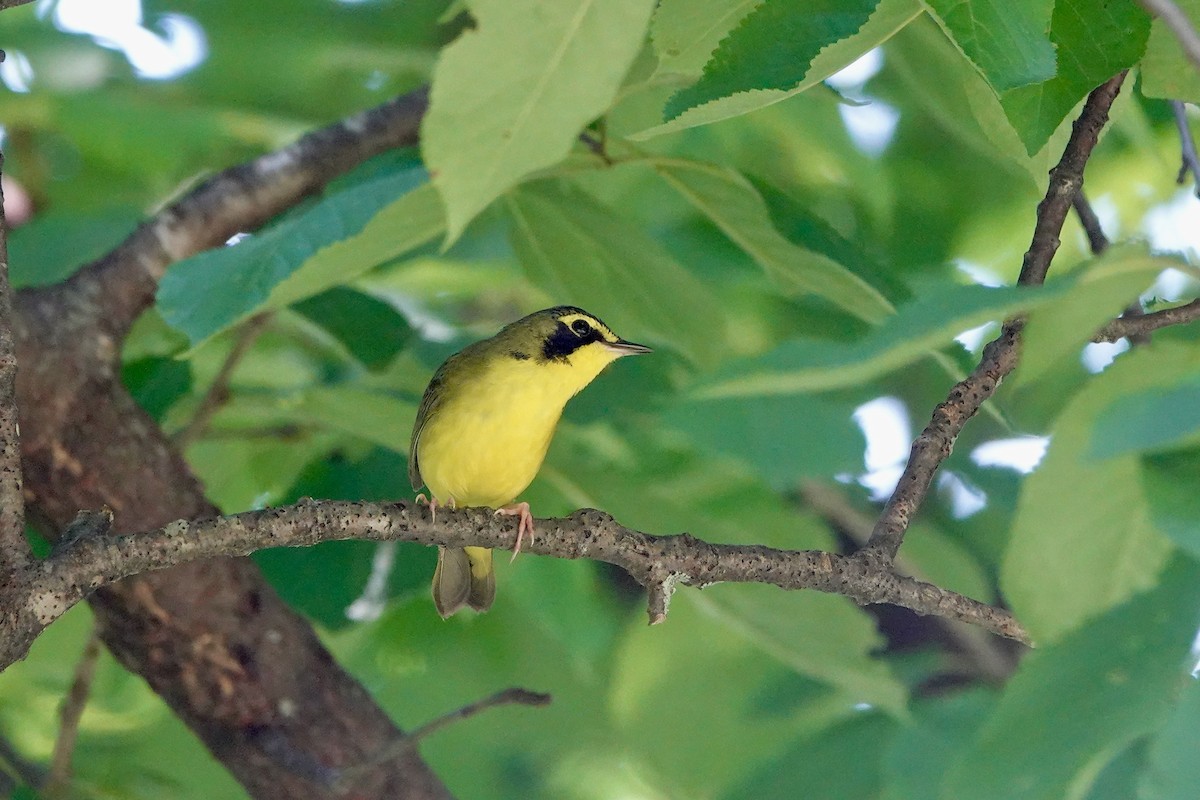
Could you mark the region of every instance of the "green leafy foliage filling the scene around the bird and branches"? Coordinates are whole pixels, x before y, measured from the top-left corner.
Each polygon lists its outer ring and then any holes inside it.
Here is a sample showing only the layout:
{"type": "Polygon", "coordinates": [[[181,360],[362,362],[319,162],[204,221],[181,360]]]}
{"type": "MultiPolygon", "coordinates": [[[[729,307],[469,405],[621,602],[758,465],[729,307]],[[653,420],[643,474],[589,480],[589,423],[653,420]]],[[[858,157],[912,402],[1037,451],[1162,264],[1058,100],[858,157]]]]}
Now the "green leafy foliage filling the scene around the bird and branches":
{"type": "MultiPolygon", "coordinates": [[[[407,498],[440,360],[577,303],[655,355],[571,403],[535,513],[595,506],[781,548],[852,548],[852,515],[870,519],[988,332],[1032,309],[1030,373],[966,428],[901,554],[1010,603],[1042,644],[1019,668],[977,631],[814,593],[683,590],[648,628],[618,571],[526,555],[500,559],[492,612],[442,621],[428,548],[256,560],[403,727],[511,685],[554,696],[422,745],[463,798],[1193,796],[1196,333],[1086,344],[1138,293],[1154,307],[1195,291],[1200,203],[1175,184],[1164,100],[1198,100],[1176,79],[1190,67],[1132,1],[817,5],[804,14],[848,28],[802,52],[779,34],[806,30],[788,4],[614,0],[578,36],[581,64],[548,78],[566,98],[534,107],[491,185],[468,139],[499,146],[516,100],[486,108],[463,76],[520,91],[544,65],[534,28],[505,14],[557,30],[556,4],[5,11],[5,166],[35,209],[11,235],[13,281],[60,281],[215,172],[432,78],[424,160],[376,158],[172,269],[126,342],[131,391],[185,431],[252,329],[227,402],[187,434],[212,500],[407,498]],[[1133,243],[1094,259],[1073,217],[1045,290],[985,288],[1015,279],[1072,109],[1139,60],[1087,170],[1110,235],[1133,243]]],[[[0,732],[28,758],[49,757],[89,625],[74,609],[0,676],[0,732]]],[[[74,766],[79,796],[241,796],[107,655],[74,766]]]]}

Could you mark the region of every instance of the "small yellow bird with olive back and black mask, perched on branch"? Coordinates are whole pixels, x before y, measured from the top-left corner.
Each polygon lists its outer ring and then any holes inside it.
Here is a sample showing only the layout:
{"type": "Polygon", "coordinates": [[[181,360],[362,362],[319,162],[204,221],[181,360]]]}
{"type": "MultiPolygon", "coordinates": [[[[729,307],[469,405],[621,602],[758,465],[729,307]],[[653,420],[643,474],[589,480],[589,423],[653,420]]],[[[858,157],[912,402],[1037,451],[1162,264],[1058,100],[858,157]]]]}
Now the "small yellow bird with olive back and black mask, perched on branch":
{"type": "MultiPolygon", "coordinates": [[[[413,491],[438,507],[486,506],[517,517],[514,558],[533,541],[533,515],[516,498],[541,469],[566,402],[617,359],[650,353],[575,306],[534,312],[438,367],[421,397],[408,449],[413,491]]],[[[433,604],[443,619],[496,599],[492,551],[439,547],[433,604]]]]}

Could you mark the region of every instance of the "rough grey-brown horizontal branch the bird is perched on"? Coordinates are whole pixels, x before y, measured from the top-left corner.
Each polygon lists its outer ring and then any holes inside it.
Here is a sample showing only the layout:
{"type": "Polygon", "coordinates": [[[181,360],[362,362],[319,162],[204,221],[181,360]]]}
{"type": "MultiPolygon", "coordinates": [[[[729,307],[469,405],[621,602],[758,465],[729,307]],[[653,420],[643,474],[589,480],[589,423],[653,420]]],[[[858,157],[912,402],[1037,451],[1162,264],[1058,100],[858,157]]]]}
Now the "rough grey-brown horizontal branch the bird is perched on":
{"type": "MultiPolygon", "coordinates": [[[[486,509],[448,510],[434,522],[422,507],[404,503],[307,500],[283,509],[179,521],[143,534],[85,536],[32,569],[25,602],[0,631],[0,666],[22,657],[34,638],[71,606],[121,578],[200,559],[248,555],[264,547],[307,547],[346,539],[509,549],[515,543],[515,528],[486,509]]],[[[864,604],[904,606],[918,614],[958,619],[1019,642],[1030,640],[1008,612],[836,553],[710,545],[688,534],[653,536],[593,510],[539,521],[536,541],[526,549],[620,566],[652,589],[652,601],[653,590],[664,583],[769,583],[781,589],[840,594],[864,604]]],[[[650,609],[652,621],[664,614],[665,609],[650,609]]]]}

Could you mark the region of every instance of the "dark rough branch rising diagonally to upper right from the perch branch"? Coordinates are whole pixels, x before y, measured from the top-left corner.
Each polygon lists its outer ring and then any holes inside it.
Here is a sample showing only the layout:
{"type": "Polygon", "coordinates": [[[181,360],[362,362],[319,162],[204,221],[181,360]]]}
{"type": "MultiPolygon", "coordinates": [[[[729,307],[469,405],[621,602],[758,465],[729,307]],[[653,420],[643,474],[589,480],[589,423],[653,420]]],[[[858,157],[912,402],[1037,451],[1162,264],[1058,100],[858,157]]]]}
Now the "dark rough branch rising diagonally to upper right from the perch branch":
{"type": "MultiPolygon", "coordinates": [[[[1045,281],[1050,261],[1058,249],[1058,235],[1067,212],[1084,182],[1084,166],[1096,148],[1124,77],[1122,72],[1092,91],[1072,126],[1070,139],[1058,164],[1050,170],[1050,186],[1038,204],[1033,241],[1025,253],[1018,283],[1039,284],[1045,281]]],[[[904,474],[875,523],[870,543],[860,551],[863,558],[881,559],[884,564],[895,559],[912,516],[929,494],[934,475],[950,455],[962,427],[1016,367],[1022,326],[1022,319],[1007,321],[1000,336],[984,348],[974,372],[959,381],[946,402],[934,409],[932,420],[913,443],[904,474]]]]}

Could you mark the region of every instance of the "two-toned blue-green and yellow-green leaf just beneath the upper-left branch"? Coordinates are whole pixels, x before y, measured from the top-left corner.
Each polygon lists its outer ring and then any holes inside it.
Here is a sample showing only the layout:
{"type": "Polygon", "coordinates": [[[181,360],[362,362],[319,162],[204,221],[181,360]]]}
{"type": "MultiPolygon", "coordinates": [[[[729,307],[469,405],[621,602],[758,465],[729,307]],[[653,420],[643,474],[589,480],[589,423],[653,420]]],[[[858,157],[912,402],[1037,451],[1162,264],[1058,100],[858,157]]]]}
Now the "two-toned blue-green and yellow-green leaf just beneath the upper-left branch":
{"type": "Polygon", "coordinates": [[[344,283],[442,229],[425,173],[407,169],[328,197],[233,247],[173,265],[158,311],[196,345],[266,308],[344,283]],[[396,199],[397,196],[400,199],[396,199]]]}

